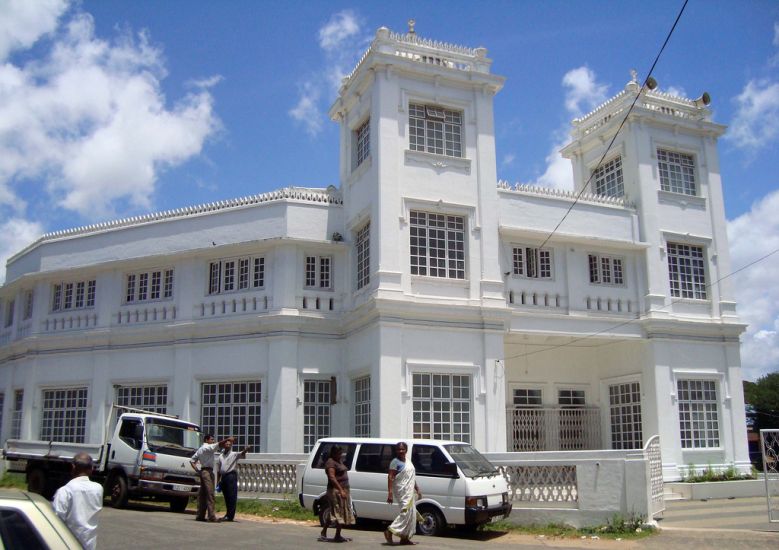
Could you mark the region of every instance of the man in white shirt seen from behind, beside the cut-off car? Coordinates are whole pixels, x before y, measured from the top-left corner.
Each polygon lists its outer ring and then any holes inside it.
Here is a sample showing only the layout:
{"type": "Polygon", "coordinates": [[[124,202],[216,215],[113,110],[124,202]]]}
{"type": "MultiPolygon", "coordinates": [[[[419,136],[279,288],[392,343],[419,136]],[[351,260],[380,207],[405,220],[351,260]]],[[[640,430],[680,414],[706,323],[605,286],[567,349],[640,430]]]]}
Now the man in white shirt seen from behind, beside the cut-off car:
{"type": "Polygon", "coordinates": [[[93,462],[88,453],[73,457],[73,479],[54,494],[54,512],[86,550],[97,546],[97,514],[103,508],[103,486],[90,481],[93,462]]]}

